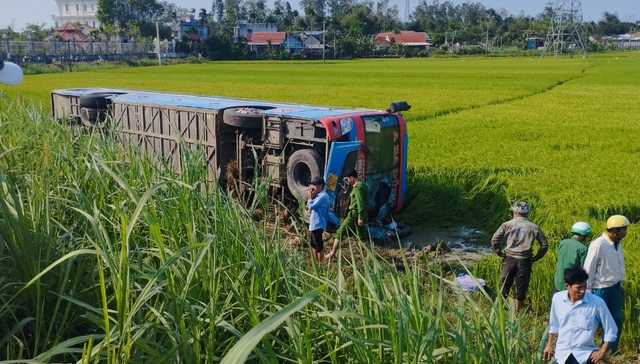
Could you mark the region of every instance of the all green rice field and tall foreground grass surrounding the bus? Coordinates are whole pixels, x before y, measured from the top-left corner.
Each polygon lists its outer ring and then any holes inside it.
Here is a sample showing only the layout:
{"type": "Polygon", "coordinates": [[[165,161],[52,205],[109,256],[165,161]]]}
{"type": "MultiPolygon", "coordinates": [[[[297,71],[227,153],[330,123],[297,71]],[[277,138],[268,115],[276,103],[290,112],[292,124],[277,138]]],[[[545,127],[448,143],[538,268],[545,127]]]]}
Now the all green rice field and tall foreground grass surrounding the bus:
{"type": "MultiPolygon", "coordinates": [[[[632,362],[639,135],[637,52],[25,76],[0,86],[0,362],[538,363],[555,247],[573,222],[599,234],[612,214],[632,226],[623,355],[611,362],[632,362]],[[511,203],[528,201],[551,246],[526,309],[458,291],[426,256],[397,272],[367,243],[315,266],[303,226],[254,222],[266,194],[247,207],[203,184],[202,155],[183,156],[189,168],[175,176],[144,156],[125,161],[109,130],[56,124],[49,93],[70,87],[373,109],[406,100],[409,185],[396,219],[492,232],[511,203]]],[[[499,267],[488,257],[467,268],[497,290],[499,267]]]]}

